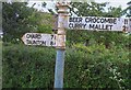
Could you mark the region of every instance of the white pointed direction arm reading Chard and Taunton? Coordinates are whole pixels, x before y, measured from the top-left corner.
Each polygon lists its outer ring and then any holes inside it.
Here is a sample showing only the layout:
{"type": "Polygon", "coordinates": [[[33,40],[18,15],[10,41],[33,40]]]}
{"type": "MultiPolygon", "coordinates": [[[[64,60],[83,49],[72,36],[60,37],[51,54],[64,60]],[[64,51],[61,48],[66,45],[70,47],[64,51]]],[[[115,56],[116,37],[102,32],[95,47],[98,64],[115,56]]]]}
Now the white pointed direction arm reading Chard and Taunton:
{"type": "Polygon", "coordinates": [[[57,34],[26,33],[22,41],[25,45],[56,46],[57,34]]]}

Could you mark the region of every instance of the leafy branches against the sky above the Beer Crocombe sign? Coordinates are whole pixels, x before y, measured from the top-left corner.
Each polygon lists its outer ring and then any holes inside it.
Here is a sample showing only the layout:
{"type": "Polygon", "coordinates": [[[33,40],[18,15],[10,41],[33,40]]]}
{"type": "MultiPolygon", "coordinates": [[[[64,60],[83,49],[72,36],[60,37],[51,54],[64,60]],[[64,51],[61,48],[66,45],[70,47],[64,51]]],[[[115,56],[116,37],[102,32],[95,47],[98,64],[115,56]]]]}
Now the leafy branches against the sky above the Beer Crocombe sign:
{"type": "Polygon", "coordinates": [[[121,16],[121,7],[115,8],[109,7],[108,2],[97,3],[97,2],[71,2],[70,13],[76,14],[78,16],[121,16]]]}

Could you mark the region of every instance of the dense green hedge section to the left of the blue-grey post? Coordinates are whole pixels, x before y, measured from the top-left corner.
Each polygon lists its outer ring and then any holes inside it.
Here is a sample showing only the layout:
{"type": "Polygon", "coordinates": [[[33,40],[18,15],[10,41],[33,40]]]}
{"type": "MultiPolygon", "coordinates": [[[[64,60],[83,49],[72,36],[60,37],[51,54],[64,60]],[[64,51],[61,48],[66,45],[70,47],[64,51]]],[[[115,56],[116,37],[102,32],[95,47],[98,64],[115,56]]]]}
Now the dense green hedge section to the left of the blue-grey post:
{"type": "Polygon", "coordinates": [[[52,87],[55,49],[3,46],[3,88],[52,87]]]}

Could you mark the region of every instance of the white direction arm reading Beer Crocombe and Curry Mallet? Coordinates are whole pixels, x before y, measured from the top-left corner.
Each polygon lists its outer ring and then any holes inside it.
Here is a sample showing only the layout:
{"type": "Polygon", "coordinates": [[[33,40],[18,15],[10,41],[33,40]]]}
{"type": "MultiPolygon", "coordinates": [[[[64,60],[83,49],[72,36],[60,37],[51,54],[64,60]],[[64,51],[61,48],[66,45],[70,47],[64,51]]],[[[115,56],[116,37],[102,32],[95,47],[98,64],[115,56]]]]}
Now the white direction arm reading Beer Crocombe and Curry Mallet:
{"type": "Polygon", "coordinates": [[[64,24],[70,30],[91,31],[129,31],[130,19],[126,18],[100,18],[100,16],[69,16],[64,24]]]}

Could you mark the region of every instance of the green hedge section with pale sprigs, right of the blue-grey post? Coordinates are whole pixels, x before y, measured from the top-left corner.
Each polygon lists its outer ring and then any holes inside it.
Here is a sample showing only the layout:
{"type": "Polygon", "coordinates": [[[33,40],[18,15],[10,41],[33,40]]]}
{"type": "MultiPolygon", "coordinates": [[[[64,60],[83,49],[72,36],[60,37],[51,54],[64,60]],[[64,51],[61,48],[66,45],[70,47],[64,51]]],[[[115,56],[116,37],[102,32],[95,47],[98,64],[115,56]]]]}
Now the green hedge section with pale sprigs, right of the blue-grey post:
{"type": "Polygon", "coordinates": [[[72,49],[67,55],[66,87],[131,88],[128,49],[106,49],[103,44],[88,47],[78,44],[72,49]]]}

